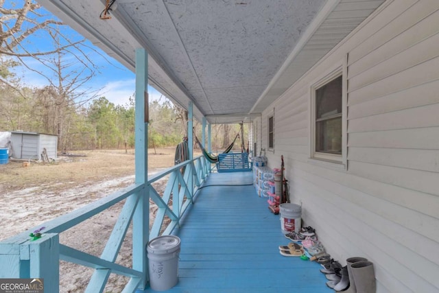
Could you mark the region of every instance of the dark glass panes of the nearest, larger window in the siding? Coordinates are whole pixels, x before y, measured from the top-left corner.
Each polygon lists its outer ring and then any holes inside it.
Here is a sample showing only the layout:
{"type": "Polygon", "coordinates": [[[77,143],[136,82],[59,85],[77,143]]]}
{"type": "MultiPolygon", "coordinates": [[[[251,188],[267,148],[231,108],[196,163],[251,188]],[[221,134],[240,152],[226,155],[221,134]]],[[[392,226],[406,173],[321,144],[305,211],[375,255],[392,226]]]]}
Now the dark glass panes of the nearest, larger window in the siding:
{"type": "Polygon", "coordinates": [[[316,152],[342,154],[342,76],[316,89],[316,152]]]}

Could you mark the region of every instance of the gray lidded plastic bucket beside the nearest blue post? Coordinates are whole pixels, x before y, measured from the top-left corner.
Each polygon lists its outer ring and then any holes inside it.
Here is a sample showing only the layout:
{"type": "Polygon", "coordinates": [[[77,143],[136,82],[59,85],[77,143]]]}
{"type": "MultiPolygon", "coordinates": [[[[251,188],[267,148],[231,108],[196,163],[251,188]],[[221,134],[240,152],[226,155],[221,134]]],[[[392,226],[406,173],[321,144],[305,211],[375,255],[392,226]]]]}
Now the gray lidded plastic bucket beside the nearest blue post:
{"type": "Polygon", "coordinates": [[[178,256],[180,238],[173,235],[159,236],[148,242],[150,286],[152,290],[165,291],[178,282],[178,256]]]}

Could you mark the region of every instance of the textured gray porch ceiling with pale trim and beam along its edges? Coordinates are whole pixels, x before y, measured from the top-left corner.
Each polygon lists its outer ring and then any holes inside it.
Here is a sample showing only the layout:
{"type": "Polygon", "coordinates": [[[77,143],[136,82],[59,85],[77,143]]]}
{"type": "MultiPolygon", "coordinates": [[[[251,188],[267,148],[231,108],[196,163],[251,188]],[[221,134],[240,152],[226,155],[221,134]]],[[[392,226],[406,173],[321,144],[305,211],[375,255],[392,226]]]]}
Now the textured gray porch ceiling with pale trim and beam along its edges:
{"type": "Polygon", "coordinates": [[[210,123],[244,121],[279,97],[384,0],[40,0],[150,84],[210,123]]]}

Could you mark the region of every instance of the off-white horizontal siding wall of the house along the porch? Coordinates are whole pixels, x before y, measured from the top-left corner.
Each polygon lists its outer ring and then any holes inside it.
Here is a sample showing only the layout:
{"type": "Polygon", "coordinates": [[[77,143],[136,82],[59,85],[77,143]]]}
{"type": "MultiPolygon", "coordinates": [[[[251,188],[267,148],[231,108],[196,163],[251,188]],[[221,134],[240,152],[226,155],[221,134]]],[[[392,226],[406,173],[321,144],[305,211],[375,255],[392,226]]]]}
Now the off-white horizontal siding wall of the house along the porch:
{"type": "Polygon", "coordinates": [[[370,259],[379,293],[439,292],[438,48],[439,1],[386,1],[262,113],[266,133],[276,108],[269,166],[284,156],[304,223],[342,263],[370,259]],[[346,56],[348,157],[337,170],[309,159],[309,99],[346,56]]]}

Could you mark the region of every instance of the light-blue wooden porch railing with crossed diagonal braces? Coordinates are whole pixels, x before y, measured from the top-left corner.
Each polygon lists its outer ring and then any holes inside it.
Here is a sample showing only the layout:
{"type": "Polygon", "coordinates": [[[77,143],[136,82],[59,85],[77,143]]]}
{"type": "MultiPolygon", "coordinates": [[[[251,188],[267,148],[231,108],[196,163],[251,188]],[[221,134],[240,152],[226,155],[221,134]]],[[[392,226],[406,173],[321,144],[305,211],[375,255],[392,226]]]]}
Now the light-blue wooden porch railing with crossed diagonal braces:
{"type": "MultiPolygon", "coordinates": [[[[144,191],[145,188],[148,188],[150,189],[150,199],[158,207],[151,231],[145,231],[145,233],[149,232],[148,239],[158,235],[169,235],[178,226],[182,215],[193,203],[195,192],[204,178],[208,176],[210,167],[211,164],[204,159],[204,156],[199,156],[156,174],[148,179],[146,186],[143,184],[131,185],[106,198],[88,204],[86,207],[40,225],[44,226],[45,229],[42,231],[42,237],[38,239],[32,240],[29,237],[29,233],[38,228],[36,227],[0,242],[0,278],[44,278],[45,292],[58,292],[61,259],[95,268],[86,292],[103,292],[110,273],[130,277],[123,292],[136,291],[144,278],[147,278],[147,272],[121,266],[115,263],[115,260],[132,222],[139,198],[143,194],[147,194],[144,191]],[[182,169],[184,172],[181,172],[182,169]],[[152,183],[165,176],[169,176],[169,178],[163,196],[161,196],[152,187],[152,183]],[[84,222],[124,199],[126,202],[100,257],[60,244],[59,233],[84,222]],[[171,200],[172,204],[170,204],[171,200]],[[170,222],[164,222],[165,216],[169,217],[170,222]]],[[[144,212],[149,213],[149,211],[144,212]]],[[[98,238],[99,235],[96,237],[98,238]]],[[[99,238],[99,240],[102,239],[99,238]]]]}

